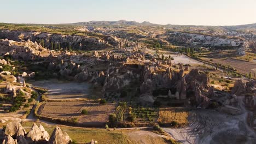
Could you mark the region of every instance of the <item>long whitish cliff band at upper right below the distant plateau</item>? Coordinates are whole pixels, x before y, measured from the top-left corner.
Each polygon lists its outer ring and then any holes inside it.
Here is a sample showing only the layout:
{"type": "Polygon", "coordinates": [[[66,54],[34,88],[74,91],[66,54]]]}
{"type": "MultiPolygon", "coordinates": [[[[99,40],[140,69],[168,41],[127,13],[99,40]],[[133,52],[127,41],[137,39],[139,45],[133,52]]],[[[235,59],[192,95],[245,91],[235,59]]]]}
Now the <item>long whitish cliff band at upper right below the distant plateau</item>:
{"type": "Polygon", "coordinates": [[[167,40],[172,43],[198,45],[198,46],[232,46],[241,47],[245,40],[239,38],[226,38],[213,35],[203,35],[196,33],[169,33],[167,40]]]}

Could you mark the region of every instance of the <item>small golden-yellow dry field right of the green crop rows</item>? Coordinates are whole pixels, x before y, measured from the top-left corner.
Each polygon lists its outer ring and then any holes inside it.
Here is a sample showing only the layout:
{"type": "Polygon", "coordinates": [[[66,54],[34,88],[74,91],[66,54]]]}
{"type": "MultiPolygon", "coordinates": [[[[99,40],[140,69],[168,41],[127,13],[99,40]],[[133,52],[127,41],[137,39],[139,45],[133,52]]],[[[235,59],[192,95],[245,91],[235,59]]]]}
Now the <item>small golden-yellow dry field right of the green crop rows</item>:
{"type": "Polygon", "coordinates": [[[171,127],[183,127],[188,124],[188,110],[182,107],[161,108],[158,122],[171,127]]]}

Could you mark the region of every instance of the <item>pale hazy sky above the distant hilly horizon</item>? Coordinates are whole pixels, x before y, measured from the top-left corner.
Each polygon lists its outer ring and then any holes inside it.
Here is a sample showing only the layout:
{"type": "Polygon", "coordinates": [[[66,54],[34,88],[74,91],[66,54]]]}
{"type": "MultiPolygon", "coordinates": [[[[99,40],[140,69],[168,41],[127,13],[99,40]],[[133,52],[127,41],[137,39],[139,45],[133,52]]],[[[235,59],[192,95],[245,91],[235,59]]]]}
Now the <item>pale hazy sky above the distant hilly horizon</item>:
{"type": "Polygon", "coordinates": [[[178,25],[256,23],[256,0],[0,0],[0,22],[149,21],[178,25]]]}

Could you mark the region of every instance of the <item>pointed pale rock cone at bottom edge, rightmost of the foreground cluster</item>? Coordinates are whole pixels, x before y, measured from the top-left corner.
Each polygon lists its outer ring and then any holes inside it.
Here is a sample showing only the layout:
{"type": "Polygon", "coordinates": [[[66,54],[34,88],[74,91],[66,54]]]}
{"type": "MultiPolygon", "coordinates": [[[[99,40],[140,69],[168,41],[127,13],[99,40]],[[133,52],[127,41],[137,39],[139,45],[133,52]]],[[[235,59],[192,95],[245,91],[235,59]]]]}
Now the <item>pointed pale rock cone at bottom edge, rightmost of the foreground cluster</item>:
{"type": "Polygon", "coordinates": [[[56,128],[53,131],[53,134],[51,134],[50,140],[48,141],[48,144],[59,144],[59,143],[69,143],[72,140],[68,136],[66,132],[62,133],[61,129],[56,126],[56,128]]]}

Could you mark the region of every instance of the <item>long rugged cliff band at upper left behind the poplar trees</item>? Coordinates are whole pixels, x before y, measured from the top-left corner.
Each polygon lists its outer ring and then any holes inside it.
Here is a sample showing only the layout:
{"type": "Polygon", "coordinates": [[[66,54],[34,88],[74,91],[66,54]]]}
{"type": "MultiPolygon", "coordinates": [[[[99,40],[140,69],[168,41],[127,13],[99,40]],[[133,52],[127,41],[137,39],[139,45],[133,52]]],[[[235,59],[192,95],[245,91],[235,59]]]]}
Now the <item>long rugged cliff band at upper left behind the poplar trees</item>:
{"type": "Polygon", "coordinates": [[[53,34],[45,32],[35,31],[0,31],[1,39],[9,39],[15,41],[28,40],[42,41],[44,40],[44,46],[51,49],[51,43],[59,44],[62,48],[69,48],[69,45],[73,49],[102,49],[106,47],[123,47],[123,46],[138,46],[136,43],[126,39],[120,39],[113,36],[102,35],[102,37],[90,37],[83,35],[65,35],[65,34],[53,34]]]}

